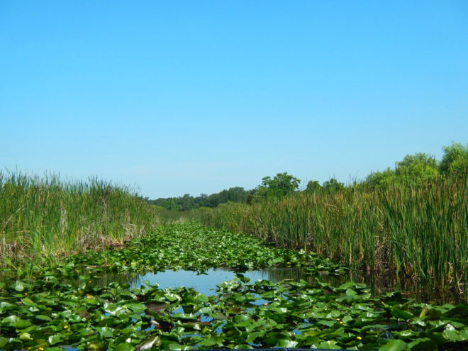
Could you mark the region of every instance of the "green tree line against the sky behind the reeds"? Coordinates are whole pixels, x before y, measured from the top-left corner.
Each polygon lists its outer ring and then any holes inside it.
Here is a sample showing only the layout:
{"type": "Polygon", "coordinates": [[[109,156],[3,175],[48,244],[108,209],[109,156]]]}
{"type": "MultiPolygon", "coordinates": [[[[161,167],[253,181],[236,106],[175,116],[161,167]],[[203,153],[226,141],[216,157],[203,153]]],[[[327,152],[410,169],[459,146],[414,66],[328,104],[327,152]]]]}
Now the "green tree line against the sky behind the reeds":
{"type": "MultiPolygon", "coordinates": [[[[433,155],[417,152],[415,155],[406,155],[403,160],[395,163],[395,168],[387,168],[382,172],[372,172],[362,182],[355,182],[348,186],[357,186],[367,189],[377,189],[379,186],[399,182],[401,180],[411,181],[414,184],[424,182],[433,177],[467,177],[468,174],[468,144],[452,143],[450,146],[442,147],[444,155],[438,162],[433,155]]],[[[179,197],[160,198],[156,200],[145,200],[153,205],[161,206],[167,210],[189,211],[200,207],[216,207],[228,202],[241,202],[251,204],[270,197],[282,197],[299,191],[301,181],[287,172],[278,173],[274,177],[262,178],[262,183],[255,189],[245,190],[240,186],[220,191],[216,194],[200,194],[191,196],[185,194],[179,197]]],[[[345,188],[345,184],[338,182],[335,178],[320,184],[317,180],[307,183],[306,192],[334,192],[345,188]]]]}

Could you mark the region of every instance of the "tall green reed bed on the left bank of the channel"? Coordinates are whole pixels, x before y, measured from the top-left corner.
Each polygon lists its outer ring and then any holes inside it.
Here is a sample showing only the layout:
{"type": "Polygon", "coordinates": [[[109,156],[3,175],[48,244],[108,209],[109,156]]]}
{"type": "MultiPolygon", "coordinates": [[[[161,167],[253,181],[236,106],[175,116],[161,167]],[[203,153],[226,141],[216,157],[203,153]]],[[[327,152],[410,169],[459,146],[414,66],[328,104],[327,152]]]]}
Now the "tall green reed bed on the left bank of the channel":
{"type": "Polygon", "coordinates": [[[121,245],[155,222],[154,206],[126,186],[0,172],[1,266],[121,245]]]}

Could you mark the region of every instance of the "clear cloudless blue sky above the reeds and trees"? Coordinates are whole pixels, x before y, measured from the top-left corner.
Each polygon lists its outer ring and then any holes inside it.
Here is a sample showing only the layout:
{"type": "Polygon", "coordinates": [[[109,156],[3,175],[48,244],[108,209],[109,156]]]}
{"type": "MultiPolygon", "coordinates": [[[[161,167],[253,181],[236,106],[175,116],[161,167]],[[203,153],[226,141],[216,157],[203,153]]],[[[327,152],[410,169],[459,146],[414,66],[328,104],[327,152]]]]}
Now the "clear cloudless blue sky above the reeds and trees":
{"type": "Polygon", "coordinates": [[[468,1],[0,0],[0,167],[151,199],[468,138],[468,1]]]}

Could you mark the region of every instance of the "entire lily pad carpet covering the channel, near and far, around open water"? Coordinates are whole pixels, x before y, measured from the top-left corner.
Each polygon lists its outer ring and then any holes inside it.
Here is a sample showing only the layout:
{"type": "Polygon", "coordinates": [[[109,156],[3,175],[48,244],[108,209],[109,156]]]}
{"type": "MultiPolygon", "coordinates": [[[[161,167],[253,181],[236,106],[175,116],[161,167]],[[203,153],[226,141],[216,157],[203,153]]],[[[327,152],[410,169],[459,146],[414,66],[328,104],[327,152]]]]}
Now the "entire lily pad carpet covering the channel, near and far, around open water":
{"type": "Polygon", "coordinates": [[[184,286],[94,284],[101,271],[303,266],[342,272],[306,252],[262,246],[245,235],[170,225],[122,250],[0,283],[0,350],[193,350],[312,347],[359,350],[463,350],[468,304],[434,306],[398,292],[375,297],[364,284],[269,282],[238,274],[213,296],[184,286]],[[76,281],[72,278],[77,276],[76,281]]]}

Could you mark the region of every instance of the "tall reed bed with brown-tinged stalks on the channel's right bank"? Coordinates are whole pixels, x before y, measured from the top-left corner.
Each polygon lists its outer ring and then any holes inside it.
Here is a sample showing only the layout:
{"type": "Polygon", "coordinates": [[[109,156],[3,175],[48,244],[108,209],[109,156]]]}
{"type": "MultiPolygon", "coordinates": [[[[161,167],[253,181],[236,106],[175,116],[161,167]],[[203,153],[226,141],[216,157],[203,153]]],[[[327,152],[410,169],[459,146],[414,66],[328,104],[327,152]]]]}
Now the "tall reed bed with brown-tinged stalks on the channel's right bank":
{"type": "Polygon", "coordinates": [[[466,177],[437,177],[377,189],[302,191],[256,204],[204,208],[188,217],[355,267],[391,269],[424,284],[466,289],[467,205],[466,177]]]}

